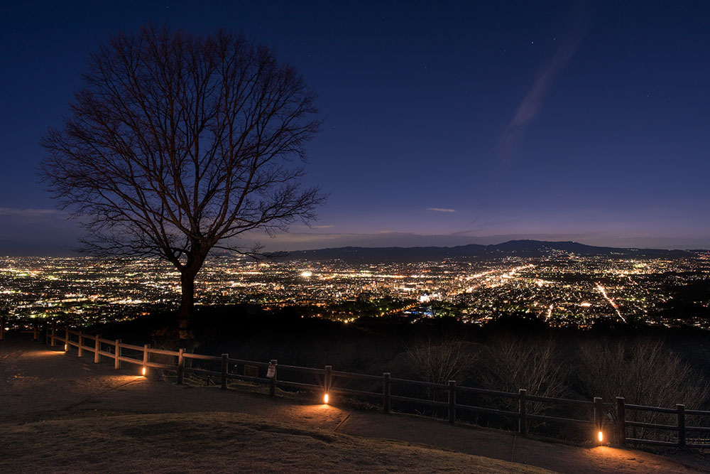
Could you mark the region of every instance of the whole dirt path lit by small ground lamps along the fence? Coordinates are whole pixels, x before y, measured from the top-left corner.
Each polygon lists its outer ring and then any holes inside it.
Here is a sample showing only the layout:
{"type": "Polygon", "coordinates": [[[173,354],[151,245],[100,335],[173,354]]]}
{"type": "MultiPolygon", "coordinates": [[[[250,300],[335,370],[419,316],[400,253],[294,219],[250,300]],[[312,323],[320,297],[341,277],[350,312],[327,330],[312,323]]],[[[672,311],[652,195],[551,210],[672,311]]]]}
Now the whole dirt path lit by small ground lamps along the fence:
{"type": "Polygon", "coordinates": [[[0,420],[22,424],[50,419],[160,414],[238,412],[274,421],[305,424],[366,438],[386,438],[564,473],[710,472],[710,463],[687,455],[676,460],[643,451],[579,448],[513,436],[505,431],[446,423],[408,415],[350,412],[337,406],[299,404],[263,394],[216,387],[178,386],[136,376],[133,370],[95,365],[89,357],[18,338],[0,342],[0,420]]]}

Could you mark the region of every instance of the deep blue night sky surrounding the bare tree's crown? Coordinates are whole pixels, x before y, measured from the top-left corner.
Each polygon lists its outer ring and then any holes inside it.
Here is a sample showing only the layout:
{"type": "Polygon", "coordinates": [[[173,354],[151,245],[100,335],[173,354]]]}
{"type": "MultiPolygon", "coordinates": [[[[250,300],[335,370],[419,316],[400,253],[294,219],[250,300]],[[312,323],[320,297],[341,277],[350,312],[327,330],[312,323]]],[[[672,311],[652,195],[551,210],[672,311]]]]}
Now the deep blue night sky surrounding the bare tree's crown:
{"type": "Polygon", "coordinates": [[[76,247],[35,168],[89,51],[242,31],[317,91],[320,219],[268,249],[511,238],[710,248],[708,1],[4,4],[0,254],[76,247]]]}

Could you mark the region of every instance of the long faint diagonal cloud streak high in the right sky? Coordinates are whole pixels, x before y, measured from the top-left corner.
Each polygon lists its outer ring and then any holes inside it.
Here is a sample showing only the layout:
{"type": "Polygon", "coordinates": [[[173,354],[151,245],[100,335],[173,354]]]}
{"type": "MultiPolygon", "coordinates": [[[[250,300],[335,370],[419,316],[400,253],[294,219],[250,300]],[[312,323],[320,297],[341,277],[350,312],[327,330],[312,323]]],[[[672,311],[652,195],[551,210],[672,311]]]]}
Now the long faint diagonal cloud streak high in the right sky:
{"type": "Polygon", "coordinates": [[[589,31],[591,15],[586,4],[577,4],[572,17],[567,31],[559,38],[560,44],[555,55],[540,67],[532,87],[530,87],[528,94],[525,95],[518,108],[515,109],[513,119],[510,120],[506,131],[503,133],[500,150],[501,156],[506,161],[510,161],[513,158],[515,144],[523,137],[530,122],[540,113],[555,77],[559,75],[559,72],[567,66],[569,60],[577,53],[579,44],[586,36],[587,31],[589,31]]]}

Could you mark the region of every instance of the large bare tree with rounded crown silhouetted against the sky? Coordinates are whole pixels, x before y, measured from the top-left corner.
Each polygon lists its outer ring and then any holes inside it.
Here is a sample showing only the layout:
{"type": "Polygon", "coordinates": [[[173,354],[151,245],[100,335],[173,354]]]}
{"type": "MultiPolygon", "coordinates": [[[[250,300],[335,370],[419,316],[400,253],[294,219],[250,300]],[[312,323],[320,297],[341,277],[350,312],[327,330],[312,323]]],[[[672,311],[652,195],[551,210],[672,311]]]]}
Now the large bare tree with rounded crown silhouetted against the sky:
{"type": "MultiPolygon", "coordinates": [[[[157,257],[180,271],[180,338],[211,249],[308,222],[324,196],[302,189],[315,95],[272,50],[217,31],[146,27],[89,58],[62,130],[43,137],[40,176],[87,230],[84,249],[157,257]]],[[[252,252],[256,249],[252,249],[252,252]]]]}

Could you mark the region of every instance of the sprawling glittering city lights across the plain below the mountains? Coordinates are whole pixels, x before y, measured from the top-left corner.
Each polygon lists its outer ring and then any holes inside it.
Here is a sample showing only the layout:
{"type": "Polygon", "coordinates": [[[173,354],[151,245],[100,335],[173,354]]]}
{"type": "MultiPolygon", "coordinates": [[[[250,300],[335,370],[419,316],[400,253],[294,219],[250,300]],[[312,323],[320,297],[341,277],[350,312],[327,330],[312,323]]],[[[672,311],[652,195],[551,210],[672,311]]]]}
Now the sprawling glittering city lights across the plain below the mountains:
{"type": "MultiPolygon", "coordinates": [[[[285,259],[269,264],[214,258],[196,283],[196,304],[249,303],[265,311],[303,308],[302,316],[354,323],[399,316],[415,323],[452,316],[484,325],[498,315],[525,314],[555,327],[591,328],[597,321],[710,328],[706,306],[682,320],[674,288],[710,279],[706,252],[685,257],[575,256],[363,263],[285,259]],[[307,268],[307,269],[305,269],[307,268]]],[[[116,264],[94,257],[0,257],[0,303],[10,317],[60,316],[75,325],[123,321],[180,301],[179,275],[165,264],[116,264]]],[[[692,301],[690,302],[692,303],[692,301]]],[[[67,346],[67,350],[69,347],[67,346]]]]}

